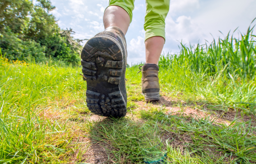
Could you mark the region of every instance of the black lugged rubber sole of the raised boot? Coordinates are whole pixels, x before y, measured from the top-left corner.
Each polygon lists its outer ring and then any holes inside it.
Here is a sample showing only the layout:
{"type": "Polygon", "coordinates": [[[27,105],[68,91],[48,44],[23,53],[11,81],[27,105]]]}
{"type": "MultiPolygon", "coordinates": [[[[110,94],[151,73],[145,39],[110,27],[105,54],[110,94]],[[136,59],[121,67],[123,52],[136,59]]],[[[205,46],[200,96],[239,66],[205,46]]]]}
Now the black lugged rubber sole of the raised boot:
{"type": "Polygon", "coordinates": [[[84,81],[96,81],[98,84],[103,81],[117,85],[111,88],[108,94],[103,94],[99,88],[97,90],[88,85],[86,102],[89,110],[100,116],[125,116],[126,102],[118,86],[124,64],[119,46],[111,40],[93,38],[84,46],[81,59],[84,81]]]}

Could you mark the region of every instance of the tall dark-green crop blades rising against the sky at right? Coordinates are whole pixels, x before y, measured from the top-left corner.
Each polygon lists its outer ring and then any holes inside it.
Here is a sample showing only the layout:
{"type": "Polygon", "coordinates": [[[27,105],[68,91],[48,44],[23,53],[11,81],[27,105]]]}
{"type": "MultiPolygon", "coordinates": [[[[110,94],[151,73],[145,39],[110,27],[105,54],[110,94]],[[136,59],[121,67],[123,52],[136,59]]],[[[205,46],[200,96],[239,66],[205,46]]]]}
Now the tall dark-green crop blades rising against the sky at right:
{"type": "Polygon", "coordinates": [[[247,34],[241,33],[236,39],[230,33],[210,44],[186,47],[181,43],[179,54],[161,56],[159,66],[168,68],[172,63],[186,63],[191,71],[215,75],[224,71],[227,75],[238,75],[243,80],[255,79],[256,74],[256,36],[249,27],[247,34]],[[224,70],[223,70],[224,69],[224,70]]]}

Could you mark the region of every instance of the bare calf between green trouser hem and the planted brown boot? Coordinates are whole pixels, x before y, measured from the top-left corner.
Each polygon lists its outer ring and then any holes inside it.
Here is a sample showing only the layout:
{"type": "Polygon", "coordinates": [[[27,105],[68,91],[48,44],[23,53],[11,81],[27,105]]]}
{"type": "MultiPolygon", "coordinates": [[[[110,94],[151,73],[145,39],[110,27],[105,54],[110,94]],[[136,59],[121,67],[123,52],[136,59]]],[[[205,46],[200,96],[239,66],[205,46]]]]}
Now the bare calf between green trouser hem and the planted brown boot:
{"type": "Polygon", "coordinates": [[[164,45],[164,38],[161,36],[153,36],[145,41],[146,63],[158,64],[164,45]]]}

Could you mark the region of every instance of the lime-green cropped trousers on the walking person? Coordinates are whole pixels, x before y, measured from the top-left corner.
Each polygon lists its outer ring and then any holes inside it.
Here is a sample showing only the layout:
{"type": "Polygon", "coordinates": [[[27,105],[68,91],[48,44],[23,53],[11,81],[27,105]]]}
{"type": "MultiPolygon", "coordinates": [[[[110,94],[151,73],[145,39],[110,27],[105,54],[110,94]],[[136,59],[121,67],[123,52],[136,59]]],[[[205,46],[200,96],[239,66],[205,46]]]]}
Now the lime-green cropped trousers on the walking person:
{"type": "MultiPolygon", "coordinates": [[[[134,0],[110,0],[109,6],[117,5],[124,8],[132,20],[134,0]]],[[[169,11],[170,0],[146,0],[146,15],[144,30],[145,40],[153,36],[161,36],[165,39],[165,17],[169,11]]]]}

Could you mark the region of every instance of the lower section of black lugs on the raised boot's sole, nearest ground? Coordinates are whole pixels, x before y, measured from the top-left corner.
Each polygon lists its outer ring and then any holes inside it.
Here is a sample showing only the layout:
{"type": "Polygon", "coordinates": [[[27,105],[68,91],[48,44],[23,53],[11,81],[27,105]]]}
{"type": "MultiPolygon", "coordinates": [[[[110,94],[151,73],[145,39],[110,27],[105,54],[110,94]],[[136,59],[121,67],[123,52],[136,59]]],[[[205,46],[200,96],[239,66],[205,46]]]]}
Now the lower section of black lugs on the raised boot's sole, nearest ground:
{"type": "Polygon", "coordinates": [[[87,90],[86,96],[87,107],[94,114],[113,117],[126,115],[126,105],[120,90],[108,95],[87,90]]]}

